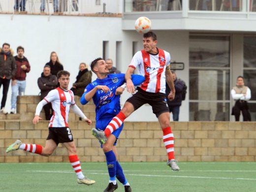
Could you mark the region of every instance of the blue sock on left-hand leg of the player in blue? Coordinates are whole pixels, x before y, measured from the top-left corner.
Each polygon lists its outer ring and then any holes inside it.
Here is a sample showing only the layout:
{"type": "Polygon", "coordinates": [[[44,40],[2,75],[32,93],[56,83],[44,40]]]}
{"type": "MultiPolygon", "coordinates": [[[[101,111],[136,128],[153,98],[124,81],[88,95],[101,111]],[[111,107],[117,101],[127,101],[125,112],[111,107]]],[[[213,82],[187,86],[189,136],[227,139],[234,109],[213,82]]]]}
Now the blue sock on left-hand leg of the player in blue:
{"type": "Polygon", "coordinates": [[[116,156],[112,150],[105,153],[105,156],[107,161],[108,174],[110,177],[109,180],[116,181],[116,156]]]}

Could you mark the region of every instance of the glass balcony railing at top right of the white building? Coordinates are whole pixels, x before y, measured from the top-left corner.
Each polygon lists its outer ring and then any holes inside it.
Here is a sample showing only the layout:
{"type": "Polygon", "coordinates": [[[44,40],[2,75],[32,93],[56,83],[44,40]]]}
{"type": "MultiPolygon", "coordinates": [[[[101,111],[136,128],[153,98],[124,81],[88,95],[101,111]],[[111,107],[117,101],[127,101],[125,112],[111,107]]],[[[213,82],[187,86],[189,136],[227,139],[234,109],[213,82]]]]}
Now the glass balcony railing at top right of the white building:
{"type": "Polygon", "coordinates": [[[125,0],[125,12],[180,11],[256,12],[256,0],[125,0]]]}

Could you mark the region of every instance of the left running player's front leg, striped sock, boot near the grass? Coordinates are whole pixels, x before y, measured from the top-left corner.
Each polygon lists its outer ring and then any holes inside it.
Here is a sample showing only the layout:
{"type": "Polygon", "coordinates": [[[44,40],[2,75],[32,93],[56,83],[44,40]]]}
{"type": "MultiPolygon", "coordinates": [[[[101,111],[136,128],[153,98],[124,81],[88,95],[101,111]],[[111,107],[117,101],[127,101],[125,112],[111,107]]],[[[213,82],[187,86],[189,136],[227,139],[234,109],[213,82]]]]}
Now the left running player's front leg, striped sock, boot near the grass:
{"type": "Polygon", "coordinates": [[[64,142],[63,145],[67,149],[69,162],[71,163],[73,170],[76,173],[77,183],[78,184],[86,184],[86,185],[95,184],[94,180],[87,178],[86,176],[84,176],[84,174],[82,172],[81,164],[80,164],[80,161],[76,154],[76,147],[75,147],[74,141],[64,142]]]}

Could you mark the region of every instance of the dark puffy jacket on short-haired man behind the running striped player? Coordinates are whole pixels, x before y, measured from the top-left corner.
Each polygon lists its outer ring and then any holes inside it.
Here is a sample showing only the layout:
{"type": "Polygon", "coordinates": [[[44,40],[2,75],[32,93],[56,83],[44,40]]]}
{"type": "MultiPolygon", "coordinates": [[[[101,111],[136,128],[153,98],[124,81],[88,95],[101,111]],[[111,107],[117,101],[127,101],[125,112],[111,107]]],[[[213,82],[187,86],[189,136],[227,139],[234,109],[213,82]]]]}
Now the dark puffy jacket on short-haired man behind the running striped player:
{"type": "Polygon", "coordinates": [[[37,79],[37,84],[41,90],[40,98],[43,99],[51,90],[54,90],[57,87],[58,79],[56,75],[51,74],[49,76],[44,76],[42,74],[41,77],[37,79]]]}

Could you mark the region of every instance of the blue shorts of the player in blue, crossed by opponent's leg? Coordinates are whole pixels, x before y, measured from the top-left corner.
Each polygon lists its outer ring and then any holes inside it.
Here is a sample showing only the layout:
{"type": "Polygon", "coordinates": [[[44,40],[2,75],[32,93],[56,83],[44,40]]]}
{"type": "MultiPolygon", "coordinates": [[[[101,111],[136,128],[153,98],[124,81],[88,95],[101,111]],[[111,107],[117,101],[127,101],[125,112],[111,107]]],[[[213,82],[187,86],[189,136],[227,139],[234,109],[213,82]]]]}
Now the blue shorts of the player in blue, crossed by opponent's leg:
{"type": "MultiPolygon", "coordinates": [[[[115,116],[109,116],[109,117],[102,117],[102,118],[100,118],[99,120],[96,121],[96,129],[98,129],[98,130],[105,130],[107,125],[111,122],[111,120],[114,117],[115,116]]],[[[116,129],[111,134],[115,135],[115,137],[118,139],[121,131],[123,130],[123,127],[124,127],[124,124],[122,124],[120,128],[116,129]]],[[[115,141],[114,145],[116,145],[116,144],[117,144],[117,140],[115,141]]],[[[101,148],[102,148],[102,144],[101,144],[101,148]]]]}

